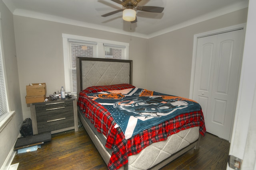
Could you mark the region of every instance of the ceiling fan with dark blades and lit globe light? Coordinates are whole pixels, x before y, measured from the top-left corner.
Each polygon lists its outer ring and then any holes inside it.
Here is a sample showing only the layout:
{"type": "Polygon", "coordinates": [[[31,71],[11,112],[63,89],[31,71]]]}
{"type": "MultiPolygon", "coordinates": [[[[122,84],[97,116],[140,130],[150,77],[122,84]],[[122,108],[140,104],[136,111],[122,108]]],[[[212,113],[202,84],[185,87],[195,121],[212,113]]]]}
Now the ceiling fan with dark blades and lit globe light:
{"type": "Polygon", "coordinates": [[[107,17],[110,15],[116,14],[118,12],[123,12],[123,20],[131,21],[131,23],[135,23],[137,22],[137,18],[136,18],[136,11],[134,10],[134,8],[139,11],[156,12],[156,13],[161,13],[164,10],[164,8],[158,7],[158,6],[138,6],[138,3],[142,0],[122,0],[122,1],[112,0],[112,1],[122,5],[124,8],[104,14],[102,15],[102,17],[107,17]]]}

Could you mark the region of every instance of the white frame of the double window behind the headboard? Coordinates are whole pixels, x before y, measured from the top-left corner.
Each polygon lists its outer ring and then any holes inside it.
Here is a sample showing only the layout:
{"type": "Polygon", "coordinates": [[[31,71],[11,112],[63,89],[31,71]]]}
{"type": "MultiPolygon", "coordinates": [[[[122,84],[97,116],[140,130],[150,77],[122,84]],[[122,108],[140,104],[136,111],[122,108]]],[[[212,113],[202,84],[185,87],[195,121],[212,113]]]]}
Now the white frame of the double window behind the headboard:
{"type": "MultiPolygon", "coordinates": [[[[84,37],[79,35],[70,35],[62,33],[62,41],[63,41],[63,58],[64,58],[64,77],[65,77],[65,90],[66,92],[70,92],[70,78],[69,78],[69,70],[68,70],[68,39],[75,39],[80,41],[91,41],[97,42],[98,44],[98,58],[105,58],[104,53],[104,44],[111,44],[117,46],[125,46],[126,47],[126,58],[124,60],[129,59],[129,43],[118,42],[118,41],[110,41],[106,39],[97,39],[92,37],[84,37]]],[[[76,94],[74,94],[76,96],[76,94]]]]}

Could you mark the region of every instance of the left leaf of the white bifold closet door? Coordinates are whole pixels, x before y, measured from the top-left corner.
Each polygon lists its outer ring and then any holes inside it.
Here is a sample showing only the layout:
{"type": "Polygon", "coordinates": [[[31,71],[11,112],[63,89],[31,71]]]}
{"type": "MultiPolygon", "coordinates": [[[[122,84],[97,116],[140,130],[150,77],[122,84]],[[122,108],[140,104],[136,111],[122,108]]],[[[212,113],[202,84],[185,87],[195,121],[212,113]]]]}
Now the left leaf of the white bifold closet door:
{"type": "Polygon", "coordinates": [[[204,119],[207,119],[210,111],[208,106],[210,106],[212,93],[216,37],[217,35],[199,38],[197,44],[193,100],[201,105],[204,119]]]}

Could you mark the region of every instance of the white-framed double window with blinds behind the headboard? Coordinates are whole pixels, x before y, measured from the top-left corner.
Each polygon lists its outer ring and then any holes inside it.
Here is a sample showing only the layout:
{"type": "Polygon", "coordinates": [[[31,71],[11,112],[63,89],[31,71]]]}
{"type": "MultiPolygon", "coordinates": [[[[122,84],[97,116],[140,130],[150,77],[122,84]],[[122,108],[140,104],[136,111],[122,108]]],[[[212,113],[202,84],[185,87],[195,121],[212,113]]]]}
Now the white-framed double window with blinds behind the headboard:
{"type": "Polygon", "coordinates": [[[76,96],[76,57],[128,59],[129,44],[62,34],[65,90],[76,96]]]}

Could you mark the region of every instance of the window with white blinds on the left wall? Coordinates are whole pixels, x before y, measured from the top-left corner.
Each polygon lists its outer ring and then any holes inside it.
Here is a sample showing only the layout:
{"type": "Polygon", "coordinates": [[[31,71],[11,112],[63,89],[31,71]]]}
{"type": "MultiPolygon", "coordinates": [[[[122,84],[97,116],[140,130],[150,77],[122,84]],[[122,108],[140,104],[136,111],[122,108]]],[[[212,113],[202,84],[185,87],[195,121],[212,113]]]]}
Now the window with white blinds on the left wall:
{"type": "MultiPolygon", "coordinates": [[[[1,14],[0,14],[1,19],[1,14]]],[[[2,121],[9,113],[7,95],[6,95],[6,80],[4,74],[4,57],[3,57],[3,43],[2,43],[2,29],[0,21],[0,121],[2,121]]]]}

